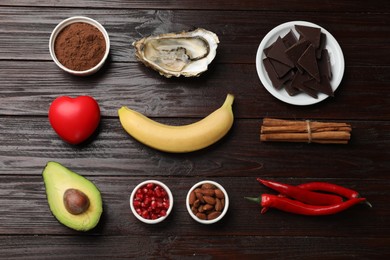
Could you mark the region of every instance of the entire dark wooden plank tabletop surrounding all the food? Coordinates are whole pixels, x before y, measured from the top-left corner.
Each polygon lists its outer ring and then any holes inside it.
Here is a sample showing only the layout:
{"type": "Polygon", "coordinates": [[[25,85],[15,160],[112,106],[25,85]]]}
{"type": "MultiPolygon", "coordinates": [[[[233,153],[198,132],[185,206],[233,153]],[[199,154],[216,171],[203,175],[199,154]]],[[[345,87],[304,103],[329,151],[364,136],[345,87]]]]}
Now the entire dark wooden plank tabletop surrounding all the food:
{"type": "Polygon", "coordinates": [[[28,1],[0,3],[0,258],[357,258],[390,256],[390,4],[389,1],[28,1]],[[98,20],[111,52],[96,75],[80,78],[51,60],[48,41],[63,19],[98,20]],[[345,57],[334,98],[294,106],[261,84],[255,56],[275,26],[304,20],[327,29],[345,57]],[[136,61],[131,43],[148,34],[202,27],[220,38],[217,57],[199,78],[166,79],[136,61]],[[236,96],[225,138],[194,153],[169,154],[122,129],[123,105],[168,124],[199,120],[236,96]],[[59,139],[47,112],[58,96],[90,95],[100,105],[96,136],[73,146],[59,139]],[[341,121],[348,145],[261,143],[264,117],[341,121]],[[41,172],[58,161],[101,190],[104,213],[86,233],[50,213],[41,172]],[[300,184],[329,181],[356,189],[373,208],[306,217],[277,210],[260,215],[244,196],[271,192],[256,177],[300,184]],[[169,218],[138,221],[129,195],[158,179],[174,193],[169,218]],[[197,181],[215,180],[231,204],[225,218],[201,225],[185,196],[197,181]]]}

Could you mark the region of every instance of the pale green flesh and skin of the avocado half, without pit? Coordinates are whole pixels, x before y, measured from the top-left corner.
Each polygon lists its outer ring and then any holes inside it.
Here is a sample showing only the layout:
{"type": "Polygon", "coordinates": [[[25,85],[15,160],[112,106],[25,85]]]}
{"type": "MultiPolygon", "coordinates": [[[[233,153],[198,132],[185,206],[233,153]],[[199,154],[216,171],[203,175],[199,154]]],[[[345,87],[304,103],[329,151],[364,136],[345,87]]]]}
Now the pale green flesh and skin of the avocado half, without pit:
{"type": "Polygon", "coordinates": [[[60,223],[78,231],[91,230],[99,223],[103,202],[95,184],[57,162],[48,162],[42,175],[50,210],[60,223]],[[81,191],[89,199],[84,212],[72,214],[66,208],[64,194],[69,189],[81,191]]]}

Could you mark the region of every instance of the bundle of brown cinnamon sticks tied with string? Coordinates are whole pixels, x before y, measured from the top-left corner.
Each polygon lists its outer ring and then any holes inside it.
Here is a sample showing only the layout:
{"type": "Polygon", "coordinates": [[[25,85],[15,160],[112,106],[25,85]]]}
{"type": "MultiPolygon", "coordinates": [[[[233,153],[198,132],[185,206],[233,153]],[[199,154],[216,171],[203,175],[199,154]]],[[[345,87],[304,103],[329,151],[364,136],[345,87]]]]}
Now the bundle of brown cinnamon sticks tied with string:
{"type": "Polygon", "coordinates": [[[260,141],[347,144],[351,130],[347,123],[264,118],[260,141]]]}

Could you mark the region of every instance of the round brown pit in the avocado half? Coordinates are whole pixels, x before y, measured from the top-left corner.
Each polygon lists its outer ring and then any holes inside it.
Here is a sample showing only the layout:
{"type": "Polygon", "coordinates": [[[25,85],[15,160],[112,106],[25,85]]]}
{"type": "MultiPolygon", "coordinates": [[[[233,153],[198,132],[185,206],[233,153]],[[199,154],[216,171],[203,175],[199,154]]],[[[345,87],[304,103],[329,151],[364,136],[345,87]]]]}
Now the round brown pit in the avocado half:
{"type": "Polygon", "coordinates": [[[79,215],[89,208],[88,196],[77,189],[67,189],[64,193],[64,205],[66,210],[73,215],[79,215]]]}

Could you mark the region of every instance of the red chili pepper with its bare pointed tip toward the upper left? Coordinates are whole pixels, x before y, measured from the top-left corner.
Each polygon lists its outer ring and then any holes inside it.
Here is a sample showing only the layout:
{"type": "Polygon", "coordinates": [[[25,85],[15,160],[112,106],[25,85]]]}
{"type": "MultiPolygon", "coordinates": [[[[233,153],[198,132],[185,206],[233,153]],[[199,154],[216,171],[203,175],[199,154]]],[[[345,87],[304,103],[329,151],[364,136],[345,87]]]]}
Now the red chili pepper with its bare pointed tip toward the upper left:
{"type": "Polygon", "coordinates": [[[285,196],[310,205],[333,205],[343,202],[343,198],[337,195],[313,192],[289,184],[266,181],[260,178],[257,178],[257,180],[265,186],[274,189],[285,196]]]}

